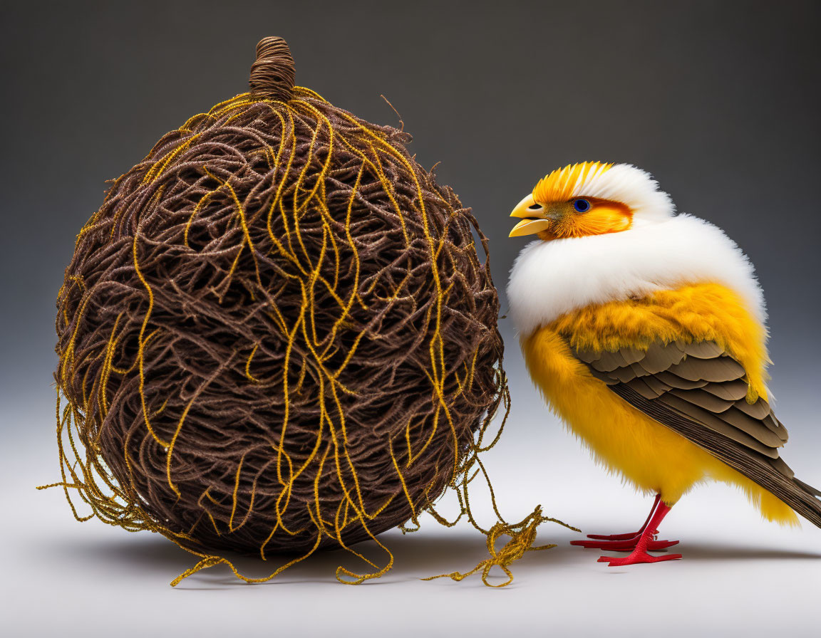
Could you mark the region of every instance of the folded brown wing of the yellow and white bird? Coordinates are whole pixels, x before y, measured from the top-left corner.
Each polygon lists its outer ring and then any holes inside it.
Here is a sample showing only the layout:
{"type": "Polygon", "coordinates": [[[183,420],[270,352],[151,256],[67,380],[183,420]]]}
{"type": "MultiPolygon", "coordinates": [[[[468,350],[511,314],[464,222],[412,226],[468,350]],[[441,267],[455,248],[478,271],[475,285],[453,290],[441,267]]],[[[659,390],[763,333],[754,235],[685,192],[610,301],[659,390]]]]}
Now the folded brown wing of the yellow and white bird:
{"type": "Polygon", "coordinates": [[[787,430],[767,401],[747,402],[744,367],[718,344],[674,341],[615,352],[568,346],[621,399],[821,526],[815,490],[797,481],[778,456],[787,430]]]}

